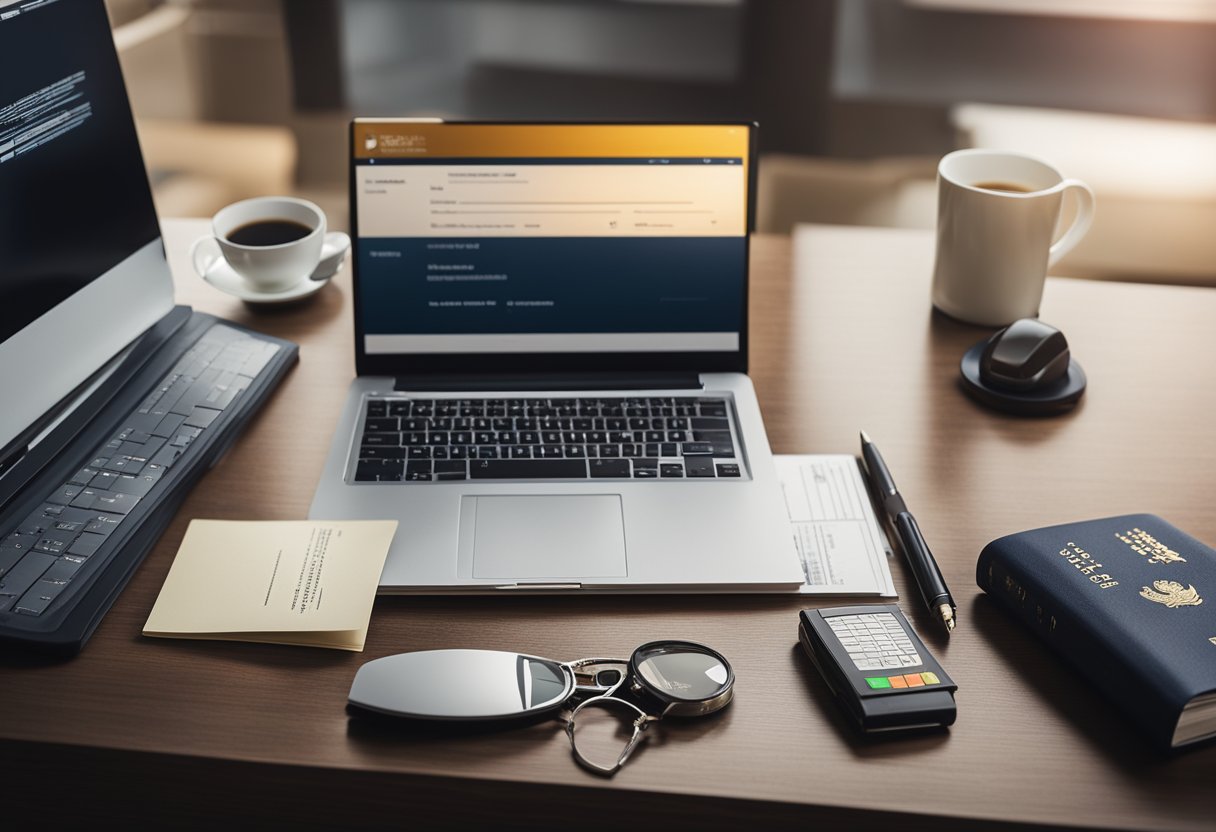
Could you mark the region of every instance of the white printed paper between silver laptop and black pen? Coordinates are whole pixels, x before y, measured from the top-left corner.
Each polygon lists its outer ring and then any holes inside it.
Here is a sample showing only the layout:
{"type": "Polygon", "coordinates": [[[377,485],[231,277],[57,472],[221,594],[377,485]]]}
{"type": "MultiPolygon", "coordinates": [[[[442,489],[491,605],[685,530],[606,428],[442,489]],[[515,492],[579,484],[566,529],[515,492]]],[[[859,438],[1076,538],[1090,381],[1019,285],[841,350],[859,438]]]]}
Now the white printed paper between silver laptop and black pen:
{"type": "Polygon", "coordinates": [[[807,595],[895,597],[878,524],[855,456],[773,456],[807,595]]]}

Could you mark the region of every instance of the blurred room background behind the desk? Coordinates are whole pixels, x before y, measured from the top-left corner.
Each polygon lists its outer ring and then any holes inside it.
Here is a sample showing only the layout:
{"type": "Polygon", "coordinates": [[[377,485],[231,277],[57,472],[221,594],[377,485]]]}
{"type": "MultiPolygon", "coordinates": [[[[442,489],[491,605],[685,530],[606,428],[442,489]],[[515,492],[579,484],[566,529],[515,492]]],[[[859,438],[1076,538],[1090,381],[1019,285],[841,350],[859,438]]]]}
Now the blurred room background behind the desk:
{"type": "Polygon", "coordinates": [[[758,230],[934,226],[938,159],[1040,156],[1058,274],[1216,285],[1216,0],[107,0],[163,217],[344,229],[353,116],[754,119],[758,230]]]}

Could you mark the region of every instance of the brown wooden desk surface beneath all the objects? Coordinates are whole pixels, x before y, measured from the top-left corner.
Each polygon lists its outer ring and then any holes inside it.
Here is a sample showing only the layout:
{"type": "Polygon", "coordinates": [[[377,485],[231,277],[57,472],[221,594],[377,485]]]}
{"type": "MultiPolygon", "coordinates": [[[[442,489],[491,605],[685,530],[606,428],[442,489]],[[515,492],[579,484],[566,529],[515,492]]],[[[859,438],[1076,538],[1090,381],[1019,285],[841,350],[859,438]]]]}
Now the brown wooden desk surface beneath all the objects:
{"type": "Polygon", "coordinates": [[[182,252],[206,227],[165,223],[180,302],[299,342],[300,364],[85,651],[0,664],[0,754],[27,775],[5,775],[10,793],[18,785],[60,805],[51,783],[71,780],[72,806],[92,816],[108,805],[148,820],[215,813],[348,827],[529,813],[569,821],[590,808],[644,811],[672,828],[1211,828],[1216,747],[1154,757],[983,597],[973,573],[992,538],[1102,515],[1156,512],[1216,541],[1216,292],[1051,280],[1043,319],[1069,336],[1091,389],[1070,415],[1019,420],[956,388],[958,358],[985,332],[930,314],[928,234],[811,226],[755,240],[753,377],[773,450],[856,452],[866,428],[959,605],[947,642],[908,591],[903,562],[893,563],[905,611],[959,685],[958,723],[876,741],[851,732],[796,650],[796,611],[809,605],[790,596],[383,597],[361,654],[142,637],[190,518],[306,515],[354,371],[349,271],[313,303],[253,311],[188,272],[182,252]],[[610,781],[575,766],[552,724],[385,735],[343,712],[356,668],[390,653],[478,646],[567,659],[659,637],[722,651],[736,699],[717,718],[668,726],[610,781]]]}

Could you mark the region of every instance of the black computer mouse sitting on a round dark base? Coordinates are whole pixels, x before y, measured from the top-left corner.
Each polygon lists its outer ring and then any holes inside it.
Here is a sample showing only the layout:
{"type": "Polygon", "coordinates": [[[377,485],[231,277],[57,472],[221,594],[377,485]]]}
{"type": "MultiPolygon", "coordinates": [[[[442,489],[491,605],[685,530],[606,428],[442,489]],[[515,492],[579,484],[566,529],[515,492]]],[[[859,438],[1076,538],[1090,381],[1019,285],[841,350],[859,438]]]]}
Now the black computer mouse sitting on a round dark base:
{"type": "Polygon", "coordinates": [[[1007,390],[1037,390],[1064,378],[1070,358],[1063,332],[1023,317],[989,338],[980,356],[980,380],[1007,390]]]}

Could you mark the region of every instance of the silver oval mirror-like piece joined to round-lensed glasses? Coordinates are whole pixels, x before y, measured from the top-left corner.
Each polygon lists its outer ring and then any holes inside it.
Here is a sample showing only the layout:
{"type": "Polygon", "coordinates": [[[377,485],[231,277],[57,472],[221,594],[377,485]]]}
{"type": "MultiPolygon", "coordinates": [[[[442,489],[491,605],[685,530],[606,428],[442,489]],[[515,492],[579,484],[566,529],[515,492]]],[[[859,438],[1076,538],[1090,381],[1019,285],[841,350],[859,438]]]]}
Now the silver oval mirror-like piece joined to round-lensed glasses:
{"type": "Polygon", "coordinates": [[[574,759],[613,775],[652,724],[711,714],[733,695],[734,671],[721,653],[692,641],[652,641],[629,659],[554,662],[488,650],[387,656],[359,669],[347,709],[483,723],[554,713],[565,723],[574,759]],[[623,733],[627,736],[618,751],[623,733]]]}

